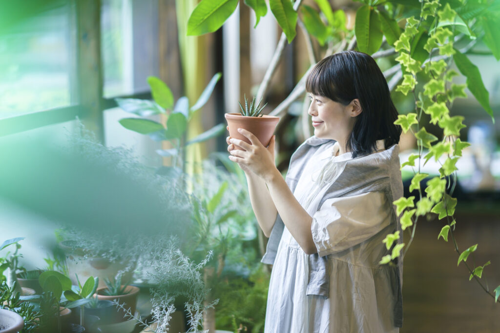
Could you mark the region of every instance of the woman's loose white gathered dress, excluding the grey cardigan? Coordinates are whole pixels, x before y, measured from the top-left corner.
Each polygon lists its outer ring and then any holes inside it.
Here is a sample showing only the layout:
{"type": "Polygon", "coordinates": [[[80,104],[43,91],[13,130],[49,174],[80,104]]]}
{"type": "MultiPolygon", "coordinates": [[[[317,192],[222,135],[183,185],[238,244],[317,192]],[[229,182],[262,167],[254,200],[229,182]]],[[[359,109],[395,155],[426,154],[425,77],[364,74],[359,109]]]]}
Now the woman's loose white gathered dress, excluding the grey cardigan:
{"type": "Polygon", "coordinates": [[[313,217],[319,256],[327,255],[329,297],[306,295],[308,256],[285,227],[272,267],[265,333],[399,332],[392,316],[399,282],[393,268],[378,264],[386,252],[382,240],[394,228],[391,203],[376,191],[328,199],[319,209],[317,200],[311,201],[321,168],[351,159],[350,153],[334,157],[337,151],[336,143],[322,145],[304,165],[293,192],[313,217]]]}

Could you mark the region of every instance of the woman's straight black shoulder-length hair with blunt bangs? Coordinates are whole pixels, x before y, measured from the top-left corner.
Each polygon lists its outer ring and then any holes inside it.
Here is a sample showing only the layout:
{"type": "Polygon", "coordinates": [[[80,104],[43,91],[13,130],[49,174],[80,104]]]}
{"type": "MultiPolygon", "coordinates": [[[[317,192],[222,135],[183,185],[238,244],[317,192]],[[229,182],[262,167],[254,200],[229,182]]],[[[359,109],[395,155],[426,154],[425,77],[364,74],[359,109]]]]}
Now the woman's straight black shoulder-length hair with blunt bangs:
{"type": "Polygon", "coordinates": [[[344,51],[324,58],[307,75],[305,89],[343,105],[359,99],[362,111],[345,147],[352,157],[375,151],[376,140],[384,139],[385,148],[399,142],[397,110],[380,68],[368,54],[344,51]]]}

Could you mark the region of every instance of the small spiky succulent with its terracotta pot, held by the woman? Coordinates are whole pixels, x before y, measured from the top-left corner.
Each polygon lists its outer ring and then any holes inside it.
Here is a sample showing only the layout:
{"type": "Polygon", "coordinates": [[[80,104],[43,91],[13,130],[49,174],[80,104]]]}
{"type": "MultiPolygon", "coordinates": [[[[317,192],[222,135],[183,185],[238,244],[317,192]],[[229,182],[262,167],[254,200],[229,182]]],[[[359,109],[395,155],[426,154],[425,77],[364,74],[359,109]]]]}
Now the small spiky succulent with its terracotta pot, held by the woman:
{"type": "MultiPolygon", "coordinates": [[[[258,138],[260,143],[267,147],[279,118],[262,114],[262,109],[265,106],[265,104],[260,106],[262,99],[255,104],[255,97],[253,97],[250,105],[248,105],[246,96],[244,96],[244,100],[244,108],[241,103],[238,102],[240,108],[239,113],[226,113],[224,115],[229,129],[229,136],[250,143],[245,136],[238,132],[238,128],[243,128],[253,133],[258,138]]],[[[236,145],[235,149],[243,150],[236,145]]]]}

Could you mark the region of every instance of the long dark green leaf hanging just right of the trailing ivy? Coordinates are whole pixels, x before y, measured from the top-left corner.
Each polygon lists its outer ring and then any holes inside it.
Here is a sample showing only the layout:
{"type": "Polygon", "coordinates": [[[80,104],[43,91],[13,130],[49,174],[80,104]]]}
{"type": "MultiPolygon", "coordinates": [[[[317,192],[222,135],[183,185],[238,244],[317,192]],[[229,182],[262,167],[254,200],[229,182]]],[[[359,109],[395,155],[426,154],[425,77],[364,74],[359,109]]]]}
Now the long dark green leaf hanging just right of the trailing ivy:
{"type": "Polygon", "coordinates": [[[479,104],[481,104],[484,110],[486,110],[486,112],[491,116],[491,119],[494,122],[493,110],[489,105],[489,93],[484,87],[484,83],[482,83],[479,69],[477,69],[477,67],[472,62],[470,62],[467,56],[460,53],[456,49],[455,51],[456,53],[453,55],[453,60],[455,61],[458,70],[467,78],[466,83],[468,89],[477,99],[479,104]]]}

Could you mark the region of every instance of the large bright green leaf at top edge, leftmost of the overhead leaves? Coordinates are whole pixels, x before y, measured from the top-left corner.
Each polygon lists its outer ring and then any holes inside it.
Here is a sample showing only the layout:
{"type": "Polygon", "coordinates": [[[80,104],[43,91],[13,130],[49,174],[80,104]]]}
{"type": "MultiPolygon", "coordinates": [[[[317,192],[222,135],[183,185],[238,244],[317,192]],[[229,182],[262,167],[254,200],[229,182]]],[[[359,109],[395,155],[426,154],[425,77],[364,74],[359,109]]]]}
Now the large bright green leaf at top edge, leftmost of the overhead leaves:
{"type": "Polygon", "coordinates": [[[231,16],[237,4],[238,0],[201,0],[187,20],[187,35],[217,30],[231,16]]]}

